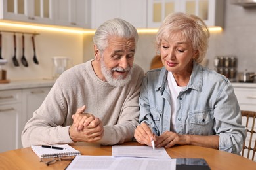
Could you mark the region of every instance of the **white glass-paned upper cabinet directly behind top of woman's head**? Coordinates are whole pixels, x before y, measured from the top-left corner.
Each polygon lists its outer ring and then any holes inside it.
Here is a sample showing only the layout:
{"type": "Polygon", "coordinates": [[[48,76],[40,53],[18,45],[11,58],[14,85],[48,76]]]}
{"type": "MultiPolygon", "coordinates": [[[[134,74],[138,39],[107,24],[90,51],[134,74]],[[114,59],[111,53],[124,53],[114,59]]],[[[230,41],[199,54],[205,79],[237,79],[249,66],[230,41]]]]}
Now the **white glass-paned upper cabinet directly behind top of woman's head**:
{"type": "Polygon", "coordinates": [[[223,0],[148,0],[148,27],[160,27],[173,12],[196,14],[209,27],[223,27],[223,0]]]}

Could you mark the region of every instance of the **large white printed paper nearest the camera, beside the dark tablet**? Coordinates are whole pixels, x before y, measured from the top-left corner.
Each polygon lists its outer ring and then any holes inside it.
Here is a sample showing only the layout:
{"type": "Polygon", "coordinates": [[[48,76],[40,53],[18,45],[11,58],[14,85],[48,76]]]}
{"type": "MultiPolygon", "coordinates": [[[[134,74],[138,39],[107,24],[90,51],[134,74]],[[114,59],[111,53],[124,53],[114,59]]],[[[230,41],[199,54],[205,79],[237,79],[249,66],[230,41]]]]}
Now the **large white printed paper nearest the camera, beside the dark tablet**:
{"type": "Polygon", "coordinates": [[[67,170],[163,170],[176,169],[175,159],[156,159],[156,158],[133,158],[133,157],[114,157],[114,156],[76,156],[68,165],[67,170]]]}

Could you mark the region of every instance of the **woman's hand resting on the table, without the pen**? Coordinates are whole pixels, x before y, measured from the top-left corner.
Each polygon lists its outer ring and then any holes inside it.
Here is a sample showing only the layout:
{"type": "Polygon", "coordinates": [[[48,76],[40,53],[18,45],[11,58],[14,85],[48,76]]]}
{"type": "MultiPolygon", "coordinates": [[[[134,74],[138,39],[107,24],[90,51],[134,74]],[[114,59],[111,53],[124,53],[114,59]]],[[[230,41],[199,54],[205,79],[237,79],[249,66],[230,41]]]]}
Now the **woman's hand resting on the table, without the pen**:
{"type": "Polygon", "coordinates": [[[186,144],[186,135],[179,135],[172,131],[165,131],[159,137],[156,137],[156,147],[170,148],[175,144],[186,144]]]}

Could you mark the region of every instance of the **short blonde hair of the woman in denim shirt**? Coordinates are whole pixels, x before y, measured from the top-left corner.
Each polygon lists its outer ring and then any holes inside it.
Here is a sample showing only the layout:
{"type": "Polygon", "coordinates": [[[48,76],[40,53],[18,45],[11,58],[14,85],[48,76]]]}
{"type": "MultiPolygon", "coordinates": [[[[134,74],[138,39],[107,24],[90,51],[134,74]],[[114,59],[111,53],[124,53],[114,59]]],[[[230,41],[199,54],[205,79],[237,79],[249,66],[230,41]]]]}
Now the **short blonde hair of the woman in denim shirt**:
{"type": "Polygon", "coordinates": [[[156,35],[156,52],[160,51],[161,40],[182,36],[184,42],[188,42],[193,50],[198,50],[198,56],[194,59],[201,63],[208,48],[210,36],[207,25],[194,14],[183,14],[181,12],[169,14],[160,26],[156,35]]]}

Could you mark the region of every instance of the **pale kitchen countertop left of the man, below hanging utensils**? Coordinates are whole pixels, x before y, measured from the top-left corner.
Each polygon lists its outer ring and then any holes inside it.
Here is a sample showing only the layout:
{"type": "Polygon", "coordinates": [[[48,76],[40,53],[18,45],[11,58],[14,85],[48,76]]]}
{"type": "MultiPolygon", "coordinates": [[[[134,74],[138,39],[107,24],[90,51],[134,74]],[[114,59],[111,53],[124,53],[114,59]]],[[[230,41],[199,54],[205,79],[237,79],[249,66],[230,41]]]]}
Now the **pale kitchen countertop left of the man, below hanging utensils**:
{"type": "Polygon", "coordinates": [[[43,88],[53,86],[55,80],[11,80],[9,83],[0,84],[0,90],[13,90],[21,88],[43,88]]]}

